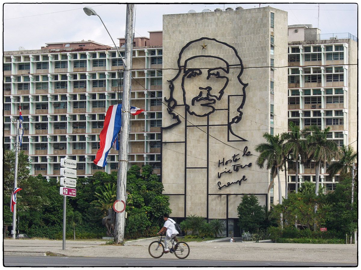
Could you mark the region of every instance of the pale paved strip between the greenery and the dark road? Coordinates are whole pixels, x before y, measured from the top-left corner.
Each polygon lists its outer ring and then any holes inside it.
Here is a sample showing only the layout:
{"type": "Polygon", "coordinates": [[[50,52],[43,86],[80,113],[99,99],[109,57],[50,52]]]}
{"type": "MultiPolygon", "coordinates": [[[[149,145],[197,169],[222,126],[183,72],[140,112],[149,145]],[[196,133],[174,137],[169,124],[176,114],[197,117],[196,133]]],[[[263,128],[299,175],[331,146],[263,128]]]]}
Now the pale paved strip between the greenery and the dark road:
{"type": "MultiPolygon", "coordinates": [[[[105,245],[106,240],[13,240],[4,239],[4,255],[39,255],[51,252],[60,256],[150,258],[148,245],[154,238],[126,242],[124,246],[105,245]]],[[[254,242],[188,242],[189,259],[247,260],[288,262],[338,262],[357,265],[355,244],[283,244],[254,242]]],[[[165,254],[162,258],[173,258],[165,254]]]]}

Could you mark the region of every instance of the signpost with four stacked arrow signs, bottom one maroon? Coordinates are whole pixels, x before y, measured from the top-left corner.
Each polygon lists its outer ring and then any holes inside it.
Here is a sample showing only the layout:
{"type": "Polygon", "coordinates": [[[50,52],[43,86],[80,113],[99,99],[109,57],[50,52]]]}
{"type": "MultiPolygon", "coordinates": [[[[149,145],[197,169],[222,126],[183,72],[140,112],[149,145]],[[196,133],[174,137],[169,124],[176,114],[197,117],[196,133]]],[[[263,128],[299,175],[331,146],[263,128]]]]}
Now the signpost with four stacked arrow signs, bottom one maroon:
{"type": "Polygon", "coordinates": [[[65,229],[66,229],[66,197],[76,197],[77,190],[77,161],[68,158],[60,159],[60,175],[64,176],[60,178],[60,195],[64,197],[63,201],[63,250],[65,250],[65,229]],[[70,177],[70,178],[68,178],[70,177]],[[74,179],[73,179],[74,178],[74,179]]]}

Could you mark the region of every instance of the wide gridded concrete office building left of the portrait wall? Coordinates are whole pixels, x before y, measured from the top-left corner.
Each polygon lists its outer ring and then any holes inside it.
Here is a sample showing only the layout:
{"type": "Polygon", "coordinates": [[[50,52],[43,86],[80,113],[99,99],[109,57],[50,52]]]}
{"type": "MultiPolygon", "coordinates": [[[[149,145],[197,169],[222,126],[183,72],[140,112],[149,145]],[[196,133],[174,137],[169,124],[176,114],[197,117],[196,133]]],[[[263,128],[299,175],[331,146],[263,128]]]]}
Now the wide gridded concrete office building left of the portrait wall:
{"type": "MultiPolygon", "coordinates": [[[[119,39],[119,50],[124,39],[119,39]]],[[[60,158],[78,161],[78,176],[117,170],[110,151],[105,169],[93,164],[106,109],[121,102],[123,62],[117,50],[94,41],[48,43],[40,50],[5,51],[4,149],[13,149],[21,104],[31,174],[60,177],[60,158]]],[[[134,39],[130,165],[150,164],[160,173],[162,32],[134,39]]]]}

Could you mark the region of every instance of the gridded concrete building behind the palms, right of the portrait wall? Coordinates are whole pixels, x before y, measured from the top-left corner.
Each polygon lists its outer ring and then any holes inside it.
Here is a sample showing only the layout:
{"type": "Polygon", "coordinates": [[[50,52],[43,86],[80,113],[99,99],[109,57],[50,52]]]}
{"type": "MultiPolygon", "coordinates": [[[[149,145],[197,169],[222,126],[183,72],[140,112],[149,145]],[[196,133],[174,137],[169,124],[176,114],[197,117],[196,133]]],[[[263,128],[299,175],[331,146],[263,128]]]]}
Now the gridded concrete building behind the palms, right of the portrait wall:
{"type": "MultiPolygon", "coordinates": [[[[309,24],[288,26],[288,121],[300,129],[330,127],[329,140],[357,149],[357,38],[321,34],[309,24]]],[[[339,176],[330,178],[327,166],[320,183],[333,190],[339,176]]],[[[290,163],[290,190],[295,189],[294,168],[290,163]]],[[[300,165],[299,172],[299,183],[316,181],[314,162],[300,165]]]]}

